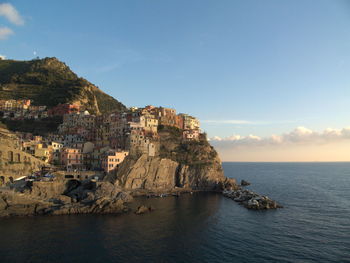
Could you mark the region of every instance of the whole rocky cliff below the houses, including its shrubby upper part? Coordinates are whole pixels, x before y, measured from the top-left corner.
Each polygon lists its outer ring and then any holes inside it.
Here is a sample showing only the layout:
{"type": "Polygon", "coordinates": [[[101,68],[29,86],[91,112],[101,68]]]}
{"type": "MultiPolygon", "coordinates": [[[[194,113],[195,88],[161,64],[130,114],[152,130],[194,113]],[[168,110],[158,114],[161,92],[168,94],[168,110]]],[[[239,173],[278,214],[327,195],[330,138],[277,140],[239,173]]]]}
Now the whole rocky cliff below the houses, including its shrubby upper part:
{"type": "Polygon", "coordinates": [[[167,192],[173,190],[220,191],[235,186],[224,176],[220,158],[205,136],[183,141],[179,131],[159,132],[158,156],[128,156],[109,180],[124,189],[167,192]]]}

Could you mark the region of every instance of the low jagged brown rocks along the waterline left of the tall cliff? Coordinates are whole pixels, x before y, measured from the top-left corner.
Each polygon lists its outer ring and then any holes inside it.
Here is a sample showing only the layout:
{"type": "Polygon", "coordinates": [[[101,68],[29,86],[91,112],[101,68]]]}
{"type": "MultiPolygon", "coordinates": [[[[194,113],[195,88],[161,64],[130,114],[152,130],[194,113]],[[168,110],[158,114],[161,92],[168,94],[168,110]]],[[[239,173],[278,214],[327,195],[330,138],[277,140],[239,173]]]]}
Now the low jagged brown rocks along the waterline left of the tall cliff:
{"type": "Polygon", "coordinates": [[[129,211],[132,196],[109,182],[35,182],[31,191],[0,191],[0,217],[129,211]]]}

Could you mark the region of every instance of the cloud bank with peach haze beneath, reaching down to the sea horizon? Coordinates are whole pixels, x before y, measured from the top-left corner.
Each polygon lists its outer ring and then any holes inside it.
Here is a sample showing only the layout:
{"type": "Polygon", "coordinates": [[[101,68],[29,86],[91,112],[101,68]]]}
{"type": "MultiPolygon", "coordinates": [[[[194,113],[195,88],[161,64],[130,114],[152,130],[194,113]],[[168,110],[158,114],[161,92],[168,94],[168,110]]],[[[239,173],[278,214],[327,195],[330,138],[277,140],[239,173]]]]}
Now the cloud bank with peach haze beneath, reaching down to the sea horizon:
{"type": "Polygon", "coordinates": [[[210,143],[224,161],[350,161],[350,127],[322,132],[297,127],[270,137],[214,136],[210,143]]]}

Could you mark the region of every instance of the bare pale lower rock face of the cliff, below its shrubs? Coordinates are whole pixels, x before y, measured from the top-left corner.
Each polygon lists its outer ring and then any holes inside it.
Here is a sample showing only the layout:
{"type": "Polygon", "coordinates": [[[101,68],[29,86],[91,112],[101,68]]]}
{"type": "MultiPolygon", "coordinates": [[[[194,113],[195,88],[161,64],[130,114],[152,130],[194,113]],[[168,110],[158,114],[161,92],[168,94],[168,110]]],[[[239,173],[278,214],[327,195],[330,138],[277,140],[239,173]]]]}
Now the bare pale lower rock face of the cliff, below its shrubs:
{"type": "Polygon", "coordinates": [[[126,158],[110,180],[123,189],[172,191],[175,188],[218,191],[235,185],[224,177],[221,164],[186,165],[161,157],[126,158]]]}

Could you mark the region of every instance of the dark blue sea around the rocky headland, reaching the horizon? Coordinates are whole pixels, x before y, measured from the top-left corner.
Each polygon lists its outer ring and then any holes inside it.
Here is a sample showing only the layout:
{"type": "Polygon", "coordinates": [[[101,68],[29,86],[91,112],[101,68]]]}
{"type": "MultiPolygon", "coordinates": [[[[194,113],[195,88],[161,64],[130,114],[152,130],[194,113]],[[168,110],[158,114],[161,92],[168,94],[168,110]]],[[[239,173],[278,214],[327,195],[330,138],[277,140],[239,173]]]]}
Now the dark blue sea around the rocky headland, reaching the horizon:
{"type": "MultiPolygon", "coordinates": [[[[145,215],[0,220],[0,262],[350,262],[350,163],[224,163],[284,208],[219,194],[142,198],[145,215]]],[[[136,205],[136,204],[135,204],[136,205]]]]}

